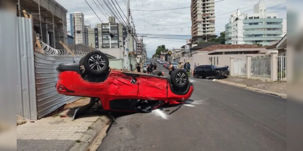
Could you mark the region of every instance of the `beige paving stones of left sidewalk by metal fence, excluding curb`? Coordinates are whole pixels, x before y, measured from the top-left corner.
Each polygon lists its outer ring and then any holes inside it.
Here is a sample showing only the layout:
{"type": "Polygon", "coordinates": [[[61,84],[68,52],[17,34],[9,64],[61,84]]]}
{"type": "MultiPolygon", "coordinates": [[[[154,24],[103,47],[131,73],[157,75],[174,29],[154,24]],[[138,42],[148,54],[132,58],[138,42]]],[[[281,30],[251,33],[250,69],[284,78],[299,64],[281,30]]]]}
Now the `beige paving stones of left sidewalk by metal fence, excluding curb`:
{"type": "MultiPolygon", "coordinates": [[[[88,99],[80,100],[81,105],[86,102],[88,99]]],[[[80,143],[80,138],[93,129],[91,125],[100,120],[101,116],[89,115],[73,120],[73,109],[17,126],[17,150],[68,151],[74,144],[80,143]],[[66,113],[67,117],[60,117],[66,113]]]]}

